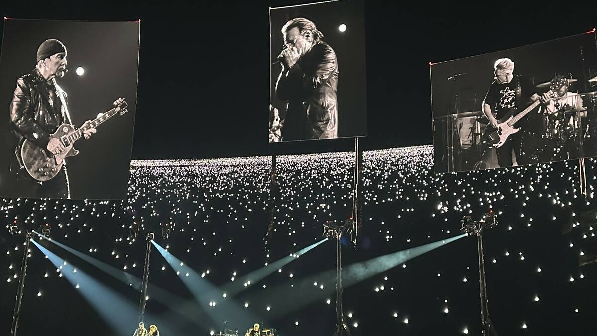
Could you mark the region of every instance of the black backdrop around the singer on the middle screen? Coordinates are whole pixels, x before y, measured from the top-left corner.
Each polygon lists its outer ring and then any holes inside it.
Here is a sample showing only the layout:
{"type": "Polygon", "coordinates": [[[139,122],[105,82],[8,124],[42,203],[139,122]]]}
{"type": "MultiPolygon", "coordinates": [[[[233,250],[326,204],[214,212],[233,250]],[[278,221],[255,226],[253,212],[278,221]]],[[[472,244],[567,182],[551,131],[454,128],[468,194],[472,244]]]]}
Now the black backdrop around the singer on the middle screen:
{"type": "MultiPolygon", "coordinates": [[[[272,8],[270,10],[270,62],[282,50],[281,28],[288,20],[305,17],[312,20],[324,33],[327,42],[338,59],[338,137],[367,135],[367,75],[365,71],[364,1],[334,1],[310,6],[272,8]],[[346,25],[345,32],[338,26],[346,25]]],[[[270,73],[270,100],[272,105],[285,113],[287,101],[276,97],[275,87],[280,65],[274,65],[270,73]]],[[[284,130],[282,130],[284,133],[284,130]]],[[[282,139],[284,140],[284,139],[282,139]]]]}

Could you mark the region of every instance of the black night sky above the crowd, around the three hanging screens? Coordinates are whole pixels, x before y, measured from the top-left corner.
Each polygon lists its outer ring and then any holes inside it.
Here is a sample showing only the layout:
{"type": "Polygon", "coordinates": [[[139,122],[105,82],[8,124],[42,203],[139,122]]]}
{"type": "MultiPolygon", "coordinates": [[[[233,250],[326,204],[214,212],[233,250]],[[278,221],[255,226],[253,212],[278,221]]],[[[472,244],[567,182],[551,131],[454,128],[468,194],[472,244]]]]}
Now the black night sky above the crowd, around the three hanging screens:
{"type": "MultiPolygon", "coordinates": [[[[11,1],[0,6],[0,15],[141,20],[134,159],[352,149],[352,139],[266,142],[268,7],[300,3],[307,2],[11,1]]],[[[432,143],[430,61],[576,35],[596,25],[594,13],[573,5],[492,9],[366,1],[369,136],[362,147],[432,143]]]]}

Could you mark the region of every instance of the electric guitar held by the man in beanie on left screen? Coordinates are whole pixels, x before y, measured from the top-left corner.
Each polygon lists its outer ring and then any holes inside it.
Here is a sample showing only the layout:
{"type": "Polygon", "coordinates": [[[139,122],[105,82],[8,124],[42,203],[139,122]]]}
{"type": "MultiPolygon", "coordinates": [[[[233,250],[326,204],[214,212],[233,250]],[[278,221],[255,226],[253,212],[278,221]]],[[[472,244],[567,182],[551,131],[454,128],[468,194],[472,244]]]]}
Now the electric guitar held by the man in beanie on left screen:
{"type": "Polygon", "coordinates": [[[75,127],[69,124],[62,124],[58,127],[58,130],[50,135],[50,139],[60,140],[61,145],[64,146],[64,150],[60,154],[52,155],[47,149],[40,148],[30,140],[23,138],[17,148],[20,149],[17,150],[17,156],[20,154],[19,161],[27,170],[27,173],[37,181],[53,179],[64,166],[64,158],[79,154],[79,151],[73,148],[73,145],[76,140],[81,139],[83,132],[95,129],[116,114],[124,115],[127,113],[127,102],[124,98],[118,98],[113,102],[113,105],[114,108],[101,114],[100,117],[78,130],[75,130],[75,127]]]}

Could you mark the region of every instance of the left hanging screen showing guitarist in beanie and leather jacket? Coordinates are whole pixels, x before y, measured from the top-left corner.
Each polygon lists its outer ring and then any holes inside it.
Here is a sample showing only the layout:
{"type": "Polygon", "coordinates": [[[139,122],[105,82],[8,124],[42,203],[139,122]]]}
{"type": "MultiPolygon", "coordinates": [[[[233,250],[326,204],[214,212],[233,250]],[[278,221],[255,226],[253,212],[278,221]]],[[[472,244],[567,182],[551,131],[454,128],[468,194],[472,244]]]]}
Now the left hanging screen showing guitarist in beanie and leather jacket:
{"type": "Polygon", "coordinates": [[[0,197],[126,197],[139,32],[139,21],[4,20],[0,197]]]}

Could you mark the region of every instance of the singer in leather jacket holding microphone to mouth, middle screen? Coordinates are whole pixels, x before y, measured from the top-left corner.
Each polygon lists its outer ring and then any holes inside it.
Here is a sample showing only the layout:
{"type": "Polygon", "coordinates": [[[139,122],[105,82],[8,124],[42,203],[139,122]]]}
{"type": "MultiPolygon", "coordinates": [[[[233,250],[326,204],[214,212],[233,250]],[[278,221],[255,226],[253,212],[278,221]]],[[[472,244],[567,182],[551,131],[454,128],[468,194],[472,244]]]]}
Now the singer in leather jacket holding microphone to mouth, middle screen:
{"type": "Polygon", "coordinates": [[[276,96],[288,101],[282,140],[338,138],[338,60],[310,20],[297,18],[281,29],[285,48],[276,96]]]}

